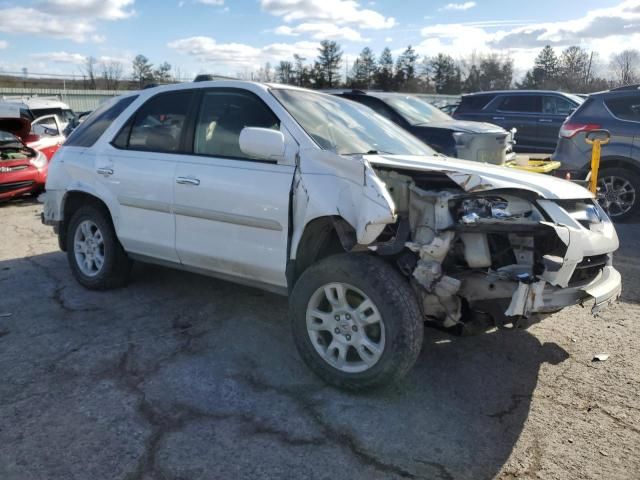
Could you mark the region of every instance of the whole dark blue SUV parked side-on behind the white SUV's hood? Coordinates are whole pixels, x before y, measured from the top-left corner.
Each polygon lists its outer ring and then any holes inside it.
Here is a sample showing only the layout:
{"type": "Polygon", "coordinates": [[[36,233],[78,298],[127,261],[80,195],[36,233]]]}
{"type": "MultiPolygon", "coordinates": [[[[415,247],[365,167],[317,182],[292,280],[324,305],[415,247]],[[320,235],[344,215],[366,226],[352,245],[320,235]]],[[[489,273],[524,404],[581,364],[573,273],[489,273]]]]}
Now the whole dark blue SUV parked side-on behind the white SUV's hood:
{"type": "Polygon", "coordinates": [[[545,90],[504,90],[463,95],[453,113],[459,120],[517,129],[516,152],[553,153],[562,122],[583,98],[545,90]]]}

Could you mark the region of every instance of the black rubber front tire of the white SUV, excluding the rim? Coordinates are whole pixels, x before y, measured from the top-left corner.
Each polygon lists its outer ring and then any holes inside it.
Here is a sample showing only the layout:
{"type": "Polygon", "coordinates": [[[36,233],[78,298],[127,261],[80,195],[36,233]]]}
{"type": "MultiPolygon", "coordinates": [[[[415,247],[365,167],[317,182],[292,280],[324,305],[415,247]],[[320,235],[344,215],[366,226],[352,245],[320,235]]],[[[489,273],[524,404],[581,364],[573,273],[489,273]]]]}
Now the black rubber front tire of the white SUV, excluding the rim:
{"type": "Polygon", "coordinates": [[[402,378],[415,364],[424,335],[424,319],[409,282],[383,260],[366,254],[339,254],[307,269],[290,298],[289,314],[296,347],[308,367],[325,382],[348,390],[380,387],[402,378]],[[343,282],[364,293],[377,307],[385,344],[377,363],[362,372],[344,372],[316,351],[307,330],[307,306],[329,283],[343,282]]]}

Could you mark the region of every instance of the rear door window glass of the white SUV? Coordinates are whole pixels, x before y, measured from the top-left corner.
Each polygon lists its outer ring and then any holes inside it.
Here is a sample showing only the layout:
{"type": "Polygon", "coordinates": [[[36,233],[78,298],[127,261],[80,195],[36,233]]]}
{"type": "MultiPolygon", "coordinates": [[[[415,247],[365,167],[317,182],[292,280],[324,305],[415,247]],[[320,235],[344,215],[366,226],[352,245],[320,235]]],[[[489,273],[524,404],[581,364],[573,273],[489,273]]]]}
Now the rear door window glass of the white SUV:
{"type": "Polygon", "coordinates": [[[177,91],[152,97],[127,122],[114,145],[129,150],[179,152],[193,95],[191,91],[177,91]]]}

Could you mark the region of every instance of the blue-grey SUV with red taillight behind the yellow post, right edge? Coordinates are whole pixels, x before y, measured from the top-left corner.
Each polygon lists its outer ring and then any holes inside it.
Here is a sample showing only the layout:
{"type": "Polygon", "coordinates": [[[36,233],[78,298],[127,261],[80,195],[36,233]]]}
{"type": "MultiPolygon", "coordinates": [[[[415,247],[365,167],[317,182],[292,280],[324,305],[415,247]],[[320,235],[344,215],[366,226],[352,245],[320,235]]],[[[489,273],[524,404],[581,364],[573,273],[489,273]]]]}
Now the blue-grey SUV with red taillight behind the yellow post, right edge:
{"type": "Polygon", "coordinates": [[[614,220],[640,212],[640,89],[639,85],[594,93],[562,125],[553,159],[558,175],[584,179],[591,168],[586,135],[605,129],[611,134],[602,146],[598,200],[614,220]]]}

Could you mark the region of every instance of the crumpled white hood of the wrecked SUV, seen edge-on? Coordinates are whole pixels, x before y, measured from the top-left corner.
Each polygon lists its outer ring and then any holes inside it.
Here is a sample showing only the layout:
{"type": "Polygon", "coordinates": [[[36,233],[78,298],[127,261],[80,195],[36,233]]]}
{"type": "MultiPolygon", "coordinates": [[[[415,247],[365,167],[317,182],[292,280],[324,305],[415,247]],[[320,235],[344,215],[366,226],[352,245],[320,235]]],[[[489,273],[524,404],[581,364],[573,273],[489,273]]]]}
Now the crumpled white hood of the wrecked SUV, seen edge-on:
{"type": "Polygon", "coordinates": [[[521,189],[549,200],[593,198],[591,192],[575,183],[488,163],[435,155],[366,155],[364,158],[374,167],[444,173],[467,192],[521,189]]]}

